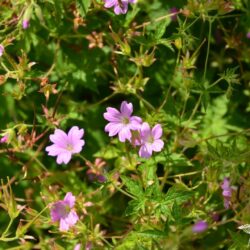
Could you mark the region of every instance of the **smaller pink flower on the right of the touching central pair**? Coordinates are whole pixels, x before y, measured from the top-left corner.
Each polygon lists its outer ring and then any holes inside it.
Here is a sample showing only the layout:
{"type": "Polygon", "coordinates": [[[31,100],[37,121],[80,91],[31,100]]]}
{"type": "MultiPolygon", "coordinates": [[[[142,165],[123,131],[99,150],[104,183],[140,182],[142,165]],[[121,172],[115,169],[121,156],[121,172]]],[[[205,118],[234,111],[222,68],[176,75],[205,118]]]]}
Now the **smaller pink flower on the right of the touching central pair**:
{"type": "Polygon", "coordinates": [[[144,122],[140,129],[140,157],[149,158],[153,151],[160,152],[164,146],[164,142],[160,139],[161,136],[160,124],[156,124],[151,130],[148,123],[144,122]]]}

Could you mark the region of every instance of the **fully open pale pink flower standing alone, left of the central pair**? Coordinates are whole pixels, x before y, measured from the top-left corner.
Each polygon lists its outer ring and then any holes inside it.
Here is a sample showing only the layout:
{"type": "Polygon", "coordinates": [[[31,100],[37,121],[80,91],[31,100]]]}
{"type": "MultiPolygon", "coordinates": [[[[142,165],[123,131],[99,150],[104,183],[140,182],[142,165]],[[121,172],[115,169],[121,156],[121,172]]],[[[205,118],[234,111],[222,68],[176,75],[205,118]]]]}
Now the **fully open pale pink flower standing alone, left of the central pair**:
{"type": "Polygon", "coordinates": [[[56,162],[58,164],[69,163],[73,154],[80,153],[85,144],[83,137],[84,130],[77,126],[72,127],[68,134],[61,129],[56,129],[54,134],[50,135],[50,140],[54,144],[46,147],[48,155],[57,156],[56,162]]]}

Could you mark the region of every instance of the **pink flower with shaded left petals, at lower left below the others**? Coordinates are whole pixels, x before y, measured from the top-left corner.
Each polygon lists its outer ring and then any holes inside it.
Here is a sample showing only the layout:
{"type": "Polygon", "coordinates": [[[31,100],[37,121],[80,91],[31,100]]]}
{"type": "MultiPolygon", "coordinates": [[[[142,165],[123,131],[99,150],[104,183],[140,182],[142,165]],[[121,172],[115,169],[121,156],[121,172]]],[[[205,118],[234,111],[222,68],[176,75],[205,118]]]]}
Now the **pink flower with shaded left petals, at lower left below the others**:
{"type": "Polygon", "coordinates": [[[73,210],[75,196],[68,192],[63,200],[53,203],[50,216],[53,222],[59,221],[60,231],[68,231],[79,220],[77,213],[73,210]]]}

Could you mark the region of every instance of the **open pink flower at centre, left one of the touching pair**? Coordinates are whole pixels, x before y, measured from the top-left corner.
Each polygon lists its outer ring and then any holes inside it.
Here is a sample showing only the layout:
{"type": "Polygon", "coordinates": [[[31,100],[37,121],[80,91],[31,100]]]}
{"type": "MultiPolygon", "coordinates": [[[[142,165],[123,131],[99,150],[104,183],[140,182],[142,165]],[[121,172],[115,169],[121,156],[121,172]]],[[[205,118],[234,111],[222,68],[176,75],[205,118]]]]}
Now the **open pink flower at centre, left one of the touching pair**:
{"type": "Polygon", "coordinates": [[[125,142],[126,139],[130,141],[131,130],[139,129],[142,122],[140,117],[131,116],[132,112],[132,103],[127,103],[126,101],[122,102],[120,111],[115,108],[107,108],[104,118],[109,121],[105,127],[105,131],[109,132],[109,136],[118,134],[121,142],[125,142]]]}

